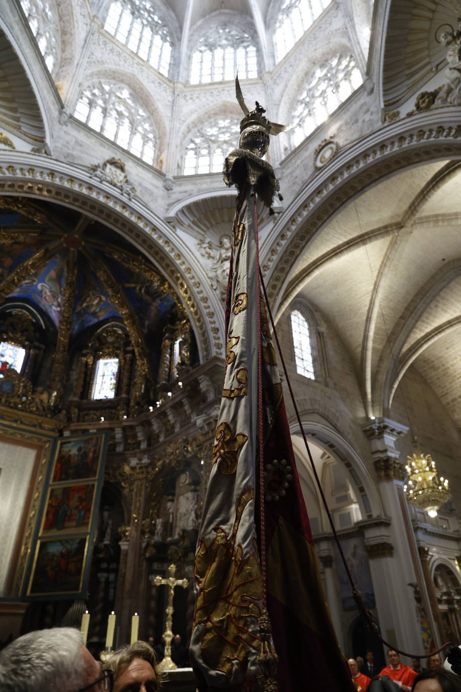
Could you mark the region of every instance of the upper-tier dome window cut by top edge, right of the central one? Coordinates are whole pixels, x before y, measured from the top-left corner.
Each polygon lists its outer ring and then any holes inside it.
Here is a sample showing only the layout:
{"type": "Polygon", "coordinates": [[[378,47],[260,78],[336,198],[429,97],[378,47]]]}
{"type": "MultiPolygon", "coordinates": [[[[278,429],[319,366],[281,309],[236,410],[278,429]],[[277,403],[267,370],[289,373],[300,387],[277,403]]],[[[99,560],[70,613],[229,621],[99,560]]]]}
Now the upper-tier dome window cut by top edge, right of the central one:
{"type": "Polygon", "coordinates": [[[276,62],[290,51],[331,0],[283,0],[274,30],[276,62]]]}

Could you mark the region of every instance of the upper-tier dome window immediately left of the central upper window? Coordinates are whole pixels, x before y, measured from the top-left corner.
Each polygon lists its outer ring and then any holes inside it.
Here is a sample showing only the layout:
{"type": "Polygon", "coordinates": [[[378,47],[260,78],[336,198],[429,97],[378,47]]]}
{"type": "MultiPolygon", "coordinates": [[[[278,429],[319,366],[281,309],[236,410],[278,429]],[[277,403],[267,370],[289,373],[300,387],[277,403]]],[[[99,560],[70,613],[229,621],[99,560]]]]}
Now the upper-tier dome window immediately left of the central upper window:
{"type": "Polygon", "coordinates": [[[162,75],[168,76],[171,36],[152,2],[124,0],[123,3],[111,3],[104,28],[162,75]]]}

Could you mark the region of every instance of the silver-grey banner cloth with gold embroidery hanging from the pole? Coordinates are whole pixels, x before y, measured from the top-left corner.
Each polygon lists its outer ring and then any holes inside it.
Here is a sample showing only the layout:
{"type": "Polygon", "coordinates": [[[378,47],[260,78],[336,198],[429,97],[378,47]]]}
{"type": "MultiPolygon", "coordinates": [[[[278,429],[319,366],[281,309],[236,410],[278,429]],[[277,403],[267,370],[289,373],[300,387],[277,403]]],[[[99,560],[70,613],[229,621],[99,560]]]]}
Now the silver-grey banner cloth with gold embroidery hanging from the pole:
{"type": "Polygon", "coordinates": [[[213,466],[198,536],[190,654],[207,684],[226,688],[261,673],[261,565],[256,543],[258,305],[254,199],[234,221],[226,372],[213,466]]]}

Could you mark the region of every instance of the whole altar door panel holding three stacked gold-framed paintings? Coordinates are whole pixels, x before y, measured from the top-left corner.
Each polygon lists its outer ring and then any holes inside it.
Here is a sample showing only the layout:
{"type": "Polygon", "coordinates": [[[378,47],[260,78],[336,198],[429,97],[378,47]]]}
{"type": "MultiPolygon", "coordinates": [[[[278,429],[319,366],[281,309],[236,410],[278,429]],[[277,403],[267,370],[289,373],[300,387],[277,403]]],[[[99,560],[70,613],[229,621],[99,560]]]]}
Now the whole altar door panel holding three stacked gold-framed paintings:
{"type": "Polygon", "coordinates": [[[23,580],[28,599],[87,596],[107,437],[55,440],[23,580]]]}

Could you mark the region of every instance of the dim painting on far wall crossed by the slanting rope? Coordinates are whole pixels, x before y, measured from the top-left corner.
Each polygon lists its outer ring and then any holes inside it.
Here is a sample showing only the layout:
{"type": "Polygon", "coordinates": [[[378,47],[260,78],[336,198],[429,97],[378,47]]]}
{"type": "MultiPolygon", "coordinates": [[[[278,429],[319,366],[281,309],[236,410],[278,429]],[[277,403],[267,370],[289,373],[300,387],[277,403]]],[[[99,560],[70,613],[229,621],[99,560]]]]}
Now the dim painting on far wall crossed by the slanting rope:
{"type": "MultiPolygon", "coordinates": [[[[368,563],[368,555],[365,551],[365,540],[363,536],[355,536],[354,538],[341,538],[341,548],[346,558],[346,563],[355,581],[357,588],[361,591],[364,603],[367,608],[375,608],[375,592],[373,590],[373,581],[371,579],[370,564],[368,563]]],[[[341,600],[344,610],[355,610],[357,606],[352,598],[350,582],[343,565],[343,561],[339,556],[339,550],[335,546],[336,565],[339,577],[339,588],[341,590],[341,600]]]]}

